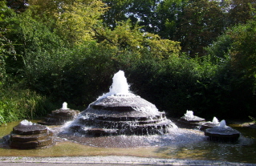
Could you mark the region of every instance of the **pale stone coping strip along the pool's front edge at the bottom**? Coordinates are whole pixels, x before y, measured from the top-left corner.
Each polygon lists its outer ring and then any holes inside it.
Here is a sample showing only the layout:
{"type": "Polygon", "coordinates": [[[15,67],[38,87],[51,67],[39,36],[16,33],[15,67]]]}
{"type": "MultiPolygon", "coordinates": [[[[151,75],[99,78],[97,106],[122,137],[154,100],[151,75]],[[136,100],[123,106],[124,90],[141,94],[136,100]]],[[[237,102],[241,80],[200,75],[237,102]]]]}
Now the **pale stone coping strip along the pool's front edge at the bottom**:
{"type": "Polygon", "coordinates": [[[25,157],[0,156],[0,163],[48,163],[48,164],[144,164],[144,165],[248,165],[256,164],[228,162],[221,160],[180,160],[146,158],[135,156],[63,156],[25,157]]]}

